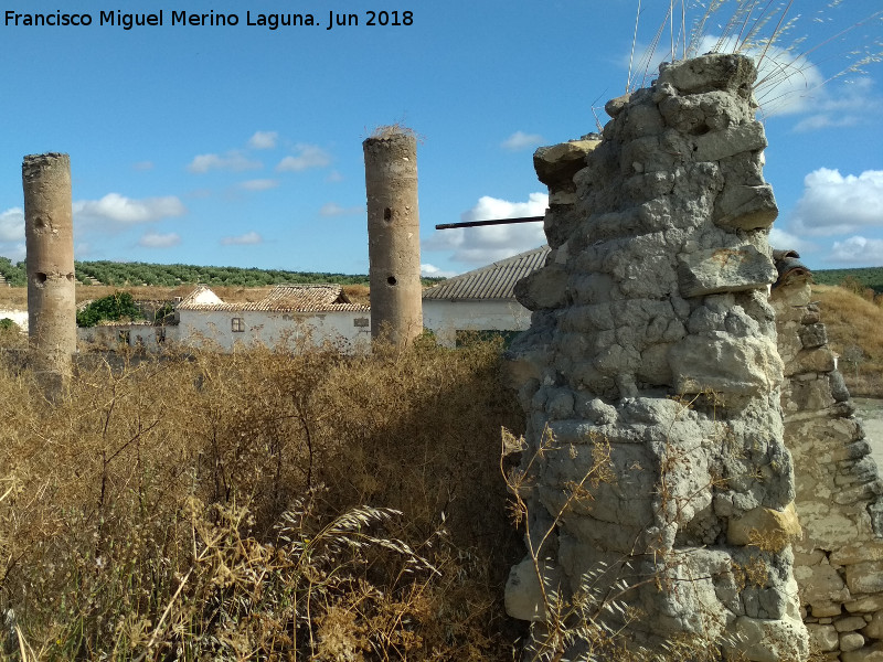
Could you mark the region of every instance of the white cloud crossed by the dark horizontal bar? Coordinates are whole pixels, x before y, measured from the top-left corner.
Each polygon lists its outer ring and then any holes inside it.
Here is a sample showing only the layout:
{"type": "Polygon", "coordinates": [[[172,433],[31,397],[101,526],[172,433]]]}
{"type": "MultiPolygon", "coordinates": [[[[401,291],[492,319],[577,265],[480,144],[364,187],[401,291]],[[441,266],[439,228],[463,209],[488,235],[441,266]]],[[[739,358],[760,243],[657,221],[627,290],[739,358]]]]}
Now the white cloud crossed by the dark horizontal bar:
{"type": "MultiPolygon", "coordinates": [[[[549,195],[531,193],[526,202],[509,202],[485,195],[469,211],[460,214],[467,221],[542,216],[549,195]]],[[[486,225],[436,231],[425,243],[425,250],[453,250],[450,259],[469,265],[487,265],[545,244],[542,223],[486,225]]]]}

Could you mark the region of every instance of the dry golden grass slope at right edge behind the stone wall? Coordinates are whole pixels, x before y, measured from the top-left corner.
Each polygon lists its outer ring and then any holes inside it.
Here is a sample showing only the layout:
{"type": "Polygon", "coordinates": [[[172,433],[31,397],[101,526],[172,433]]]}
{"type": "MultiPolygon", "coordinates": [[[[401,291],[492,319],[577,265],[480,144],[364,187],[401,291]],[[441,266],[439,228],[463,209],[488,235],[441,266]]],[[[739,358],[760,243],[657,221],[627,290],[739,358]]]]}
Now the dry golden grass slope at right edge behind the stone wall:
{"type": "Polygon", "coordinates": [[[883,307],[842,287],[812,286],[831,349],[840,354],[840,371],[850,393],[883,397],[883,307]]]}

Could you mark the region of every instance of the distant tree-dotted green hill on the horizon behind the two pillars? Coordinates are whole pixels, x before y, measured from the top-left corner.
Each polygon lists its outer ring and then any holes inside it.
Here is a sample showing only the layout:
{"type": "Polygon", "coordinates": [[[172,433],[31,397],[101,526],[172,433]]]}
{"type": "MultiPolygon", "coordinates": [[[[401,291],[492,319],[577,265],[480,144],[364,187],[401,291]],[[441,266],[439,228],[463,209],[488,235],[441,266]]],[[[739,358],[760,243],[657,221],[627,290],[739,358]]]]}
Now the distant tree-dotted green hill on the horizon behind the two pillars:
{"type": "MultiPolygon", "coordinates": [[[[109,260],[75,261],[76,279],[83,285],[155,286],[225,285],[262,287],[280,284],[337,282],[339,285],[369,285],[366,274],[332,274],[323,271],[287,271],[283,269],[246,269],[242,267],[200,267],[195,265],[155,265],[149,263],[119,263],[109,260]]],[[[28,285],[24,261],[13,264],[0,257],[0,276],[12,287],[28,285]]],[[[430,285],[444,278],[424,278],[430,285]]]]}

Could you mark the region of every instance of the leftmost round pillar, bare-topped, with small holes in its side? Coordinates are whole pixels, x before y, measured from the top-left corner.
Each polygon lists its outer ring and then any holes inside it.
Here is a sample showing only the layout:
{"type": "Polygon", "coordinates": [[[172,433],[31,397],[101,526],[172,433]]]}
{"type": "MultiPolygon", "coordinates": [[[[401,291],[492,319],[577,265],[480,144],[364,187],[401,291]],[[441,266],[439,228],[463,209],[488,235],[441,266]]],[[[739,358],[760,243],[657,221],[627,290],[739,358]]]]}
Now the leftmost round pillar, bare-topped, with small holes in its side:
{"type": "Polygon", "coordinates": [[[42,377],[63,382],[76,351],[71,161],[67,154],[32,154],[21,172],[30,361],[42,377]]]}

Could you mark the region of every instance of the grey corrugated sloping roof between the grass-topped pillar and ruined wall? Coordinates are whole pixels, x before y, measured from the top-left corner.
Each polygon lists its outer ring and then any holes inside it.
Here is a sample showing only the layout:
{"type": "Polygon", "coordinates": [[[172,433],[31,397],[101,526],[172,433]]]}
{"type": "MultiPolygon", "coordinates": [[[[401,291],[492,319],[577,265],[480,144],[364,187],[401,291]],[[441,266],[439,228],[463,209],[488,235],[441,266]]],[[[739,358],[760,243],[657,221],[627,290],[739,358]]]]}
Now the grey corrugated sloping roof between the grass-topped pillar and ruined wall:
{"type": "Polygon", "coordinates": [[[515,299],[515,282],[528,274],[545,265],[549,246],[501,259],[487,267],[448,278],[435,287],[424,290],[424,299],[444,299],[447,301],[515,299]]]}

